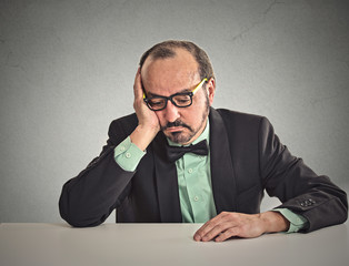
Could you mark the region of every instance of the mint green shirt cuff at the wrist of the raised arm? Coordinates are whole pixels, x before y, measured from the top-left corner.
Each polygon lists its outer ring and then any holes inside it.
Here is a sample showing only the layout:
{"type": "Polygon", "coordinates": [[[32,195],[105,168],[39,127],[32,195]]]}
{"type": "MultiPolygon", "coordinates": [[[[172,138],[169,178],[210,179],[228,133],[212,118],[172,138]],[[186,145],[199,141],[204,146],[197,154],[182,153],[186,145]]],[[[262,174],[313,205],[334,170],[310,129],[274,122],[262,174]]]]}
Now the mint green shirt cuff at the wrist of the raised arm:
{"type": "Polygon", "coordinates": [[[144,155],[146,152],[141,151],[128,136],[116,146],[113,157],[122,170],[133,172],[144,155]]]}

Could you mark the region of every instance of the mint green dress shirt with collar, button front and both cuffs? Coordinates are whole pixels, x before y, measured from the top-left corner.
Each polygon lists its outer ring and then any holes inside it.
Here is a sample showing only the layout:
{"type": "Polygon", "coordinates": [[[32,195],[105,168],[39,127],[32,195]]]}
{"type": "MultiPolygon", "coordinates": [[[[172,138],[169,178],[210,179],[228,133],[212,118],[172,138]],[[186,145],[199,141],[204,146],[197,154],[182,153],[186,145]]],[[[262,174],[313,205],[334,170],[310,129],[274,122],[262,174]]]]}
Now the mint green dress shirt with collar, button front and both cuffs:
{"type": "MultiPolygon", "coordinates": [[[[202,134],[193,141],[196,144],[202,140],[209,143],[209,121],[202,134]]],[[[179,145],[168,140],[170,145],[179,145]]],[[[124,171],[134,171],[140,160],[146,155],[128,136],[114,149],[114,160],[124,171]]],[[[179,200],[183,223],[206,223],[217,215],[210,170],[210,153],[197,155],[186,153],[176,161],[178,174],[179,200]]],[[[289,222],[290,227],[287,233],[298,232],[307,224],[307,219],[295,214],[288,208],[275,208],[281,213],[289,222]]]]}

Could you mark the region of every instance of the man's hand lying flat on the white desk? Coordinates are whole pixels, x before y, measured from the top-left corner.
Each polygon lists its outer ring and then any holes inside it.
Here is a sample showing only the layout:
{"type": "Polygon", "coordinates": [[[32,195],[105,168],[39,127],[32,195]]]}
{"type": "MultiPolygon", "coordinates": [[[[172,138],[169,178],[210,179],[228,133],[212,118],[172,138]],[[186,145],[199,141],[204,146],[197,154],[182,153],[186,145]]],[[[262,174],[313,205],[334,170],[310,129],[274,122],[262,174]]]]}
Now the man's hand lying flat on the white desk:
{"type": "Polygon", "coordinates": [[[197,242],[223,242],[230,237],[258,237],[265,233],[282,232],[289,222],[277,212],[241,214],[222,212],[208,221],[193,235],[197,242]]]}

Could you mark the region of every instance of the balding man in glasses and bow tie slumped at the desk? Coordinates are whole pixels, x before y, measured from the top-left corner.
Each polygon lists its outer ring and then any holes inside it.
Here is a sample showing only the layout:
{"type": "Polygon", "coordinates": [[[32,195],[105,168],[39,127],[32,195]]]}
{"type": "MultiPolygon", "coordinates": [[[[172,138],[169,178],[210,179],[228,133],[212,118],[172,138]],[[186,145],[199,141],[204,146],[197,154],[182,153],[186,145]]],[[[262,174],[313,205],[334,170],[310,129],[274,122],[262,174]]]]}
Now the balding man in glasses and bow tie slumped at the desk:
{"type": "Polygon", "coordinates": [[[346,193],[292,156],[266,117],[211,108],[215,89],[195,43],[148,50],[136,114],[113,121],[100,156],[64,184],[61,216],[96,226],[117,208],[120,223],[205,223],[193,236],[202,242],[343,223],[346,193]],[[265,190],[282,204],[260,213],[265,190]]]}

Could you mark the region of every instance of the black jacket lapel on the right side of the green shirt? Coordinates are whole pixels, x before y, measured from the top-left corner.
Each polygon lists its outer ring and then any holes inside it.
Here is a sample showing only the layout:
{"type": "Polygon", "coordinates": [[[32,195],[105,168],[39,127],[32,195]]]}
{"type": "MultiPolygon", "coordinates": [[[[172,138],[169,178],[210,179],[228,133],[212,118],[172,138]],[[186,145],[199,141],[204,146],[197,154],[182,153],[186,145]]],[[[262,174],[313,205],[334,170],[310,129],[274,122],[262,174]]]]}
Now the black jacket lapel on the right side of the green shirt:
{"type": "Polygon", "coordinates": [[[237,209],[237,188],[229,139],[221,115],[210,110],[211,181],[217,214],[237,209]]]}

